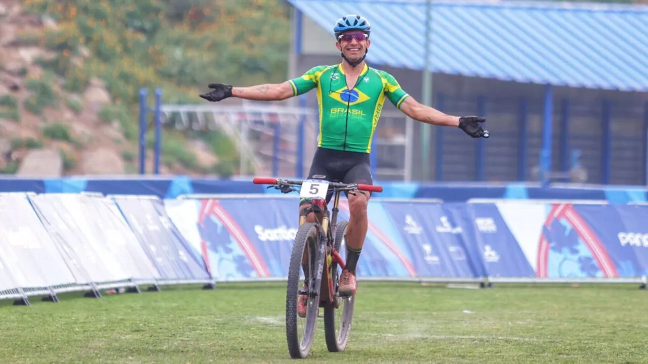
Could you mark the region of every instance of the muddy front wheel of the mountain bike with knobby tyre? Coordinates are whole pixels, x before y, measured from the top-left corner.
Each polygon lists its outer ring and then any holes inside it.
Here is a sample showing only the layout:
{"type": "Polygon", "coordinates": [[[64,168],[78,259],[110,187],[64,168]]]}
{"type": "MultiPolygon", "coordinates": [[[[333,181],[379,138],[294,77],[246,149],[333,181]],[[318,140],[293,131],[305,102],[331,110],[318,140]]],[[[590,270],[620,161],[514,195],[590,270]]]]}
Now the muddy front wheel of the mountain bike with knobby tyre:
{"type": "Polygon", "coordinates": [[[317,279],[316,269],[320,266],[318,260],[323,261],[324,259],[324,255],[318,254],[318,230],[318,225],[314,223],[303,223],[297,230],[290,257],[286,290],[286,340],[288,341],[288,352],[293,359],[303,359],[310,354],[315,336],[319,313],[319,284],[321,282],[321,275],[317,279]],[[304,288],[303,284],[299,282],[304,254],[308,257],[308,275],[310,277],[306,289],[308,292],[318,291],[318,294],[309,295],[306,317],[302,319],[297,315],[297,300],[301,298],[299,291],[304,288]],[[303,326],[303,329],[300,330],[299,326],[303,326]]]}

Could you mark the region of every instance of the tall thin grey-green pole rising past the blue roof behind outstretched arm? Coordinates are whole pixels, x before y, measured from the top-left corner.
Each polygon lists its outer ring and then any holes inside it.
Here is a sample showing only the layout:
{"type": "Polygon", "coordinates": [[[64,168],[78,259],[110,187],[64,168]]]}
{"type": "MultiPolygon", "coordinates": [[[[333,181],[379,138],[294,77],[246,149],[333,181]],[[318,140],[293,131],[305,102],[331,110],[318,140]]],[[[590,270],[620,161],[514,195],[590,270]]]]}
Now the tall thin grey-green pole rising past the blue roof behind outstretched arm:
{"type": "MultiPolygon", "coordinates": [[[[425,60],[423,63],[423,90],[422,104],[432,106],[432,69],[430,67],[432,34],[430,34],[432,23],[432,0],[425,3],[425,60]]],[[[434,132],[434,130],[433,130],[434,132]]],[[[430,171],[430,124],[422,124],[421,131],[421,160],[422,180],[427,181],[430,171]]]]}

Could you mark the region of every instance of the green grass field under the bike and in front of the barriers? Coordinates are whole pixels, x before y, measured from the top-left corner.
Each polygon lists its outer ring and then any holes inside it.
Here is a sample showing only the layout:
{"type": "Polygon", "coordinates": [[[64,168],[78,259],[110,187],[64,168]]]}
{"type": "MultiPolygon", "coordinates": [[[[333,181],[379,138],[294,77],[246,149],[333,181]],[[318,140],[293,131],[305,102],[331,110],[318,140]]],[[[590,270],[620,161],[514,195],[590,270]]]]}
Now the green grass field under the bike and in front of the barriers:
{"type": "MultiPolygon", "coordinates": [[[[648,363],[648,292],[360,282],[351,341],[307,363],[648,363]]],[[[3,363],[294,363],[283,284],[0,302],[3,363]]]]}

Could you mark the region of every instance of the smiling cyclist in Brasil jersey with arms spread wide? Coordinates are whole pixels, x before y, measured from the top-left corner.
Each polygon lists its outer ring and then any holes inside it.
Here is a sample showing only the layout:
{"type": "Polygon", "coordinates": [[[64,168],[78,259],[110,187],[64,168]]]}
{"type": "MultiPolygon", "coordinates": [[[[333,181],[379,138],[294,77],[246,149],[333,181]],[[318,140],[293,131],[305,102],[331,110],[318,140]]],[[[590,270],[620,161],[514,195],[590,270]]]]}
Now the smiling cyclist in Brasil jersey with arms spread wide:
{"type": "MultiPolygon", "coordinates": [[[[336,47],[342,62],[319,65],[301,77],[282,84],[263,84],[250,87],[232,87],[209,84],[213,89],[200,97],[220,101],[227,97],[248,100],[284,100],[317,90],[319,106],[318,149],[312,160],[308,178],[320,175],[330,181],[372,184],[369,154],[380,111],[385,98],[411,119],[440,126],[461,128],[473,138],[489,137],[481,128],[482,117],[456,117],[419,104],[404,91],[391,74],[369,67],[364,62],[371,41],[371,25],[359,15],[343,16],[333,27],[336,47]]],[[[330,201],[331,194],[327,196],[330,201]]],[[[367,234],[367,202],[369,193],[347,195],[351,217],[345,236],[347,260],[340,276],[338,291],[344,295],[356,293],[356,265],[367,234]]],[[[299,203],[301,211],[310,207],[309,201],[299,203]]],[[[310,216],[309,216],[310,217],[310,216]]],[[[313,219],[310,218],[310,221],[313,219]]],[[[304,267],[308,280],[308,269],[304,267]]],[[[306,312],[307,296],[299,300],[298,313],[306,312]]]]}

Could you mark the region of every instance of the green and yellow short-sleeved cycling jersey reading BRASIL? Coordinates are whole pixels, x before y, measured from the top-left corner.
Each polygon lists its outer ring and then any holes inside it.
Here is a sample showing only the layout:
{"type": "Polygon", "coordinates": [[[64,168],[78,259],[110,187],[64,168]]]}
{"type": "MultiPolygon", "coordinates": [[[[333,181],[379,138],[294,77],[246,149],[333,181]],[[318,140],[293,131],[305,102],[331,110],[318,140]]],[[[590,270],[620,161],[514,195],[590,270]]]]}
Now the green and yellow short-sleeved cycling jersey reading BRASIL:
{"type": "Polygon", "coordinates": [[[318,146],[351,152],[371,152],[371,139],[385,97],[400,108],[409,96],[391,74],[366,64],[353,89],[347,89],[341,64],[313,67],[289,82],[293,96],[317,87],[318,146]]]}

